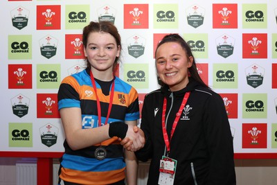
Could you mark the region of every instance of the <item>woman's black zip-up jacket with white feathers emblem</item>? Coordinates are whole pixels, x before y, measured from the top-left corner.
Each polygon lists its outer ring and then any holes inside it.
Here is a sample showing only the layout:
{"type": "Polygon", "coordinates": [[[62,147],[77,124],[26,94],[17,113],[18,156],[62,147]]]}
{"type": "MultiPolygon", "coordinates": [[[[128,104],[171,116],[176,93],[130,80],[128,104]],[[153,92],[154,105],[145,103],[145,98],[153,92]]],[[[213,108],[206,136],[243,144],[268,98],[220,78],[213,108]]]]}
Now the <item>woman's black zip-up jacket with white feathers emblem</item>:
{"type": "Polygon", "coordinates": [[[233,185],[235,166],[233,138],[223,100],[211,89],[190,79],[187,87],[171,92],[167,86],[145,96],[141,129],[144,148],[136,152],[140,161],[151,159],[148,185],[158,184],[159,161],[165,155],[161,114],[163,98],[168,100],[168,137],[186,91],[190,97],[170,141],[168,157],[177,160],[175,185],[233,185]]]}

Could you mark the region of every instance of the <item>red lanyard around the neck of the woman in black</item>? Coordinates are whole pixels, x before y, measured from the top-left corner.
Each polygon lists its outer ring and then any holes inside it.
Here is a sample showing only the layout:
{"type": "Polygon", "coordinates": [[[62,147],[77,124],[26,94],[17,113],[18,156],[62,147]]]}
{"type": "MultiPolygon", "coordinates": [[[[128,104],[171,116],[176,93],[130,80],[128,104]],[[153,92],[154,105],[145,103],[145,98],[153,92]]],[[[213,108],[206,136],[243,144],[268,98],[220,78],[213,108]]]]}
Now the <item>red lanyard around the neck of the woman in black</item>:
{"type": "MultiPolygon", "coordinates": [[[[171,141],[172,136],[175,132],[175,128],[177,127],[177,123],[178,123],[179,118],[181,116],[181,112],[184,109],[184,107],[186,105],[186,102],[188,101],[189,96],[190,96],[190,91],[186,92],[186,94],[183,98],[183,101],[181,103],[181,106],[179,108],[179,111],[176,114],[175,121],[172,125],[172,129],[171,129],[171,133],[170,133],[170,141],[171,141]]],[[[166,143],[166,151],[167,151],[167,153],[169,153],[170,152],[170,141],[168,140],[168,132],[166,132],[166,104],[167,104],[167,102],[168,101],[166,100],[166,97],[163,98],[163,113],[162,113],[162,116],[161,116],[161,125],[163,127],[163,140],[166,143]]]]}

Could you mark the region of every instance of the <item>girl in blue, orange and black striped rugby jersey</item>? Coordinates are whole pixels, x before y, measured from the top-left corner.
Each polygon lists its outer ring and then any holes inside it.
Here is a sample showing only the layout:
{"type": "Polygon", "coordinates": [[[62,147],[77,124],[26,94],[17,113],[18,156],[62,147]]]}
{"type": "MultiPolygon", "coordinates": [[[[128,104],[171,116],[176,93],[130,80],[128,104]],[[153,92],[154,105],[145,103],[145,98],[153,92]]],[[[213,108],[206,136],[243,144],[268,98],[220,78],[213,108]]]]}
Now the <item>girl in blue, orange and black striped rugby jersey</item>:
{"type": "Polygon", "coordinates": [[[114,76],[120,35],[109,21],[91,21],[83,29],[82,44],[87,68],[64,78],[58,91],[66,137],[59,177],[65,185],[136,184],[134,151],[145,138],[139,128],[133,131],[139,119],[136,89],[114,76]],[[120,145],[125,137],[129,150],[120,145]]]}

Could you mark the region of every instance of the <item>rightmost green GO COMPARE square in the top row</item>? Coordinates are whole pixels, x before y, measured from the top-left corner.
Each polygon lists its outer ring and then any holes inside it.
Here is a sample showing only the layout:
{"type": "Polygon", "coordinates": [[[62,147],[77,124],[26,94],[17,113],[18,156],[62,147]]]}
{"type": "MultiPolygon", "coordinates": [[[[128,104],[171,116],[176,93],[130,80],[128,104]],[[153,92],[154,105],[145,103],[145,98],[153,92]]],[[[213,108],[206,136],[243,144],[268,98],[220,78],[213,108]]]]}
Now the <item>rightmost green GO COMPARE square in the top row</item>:
{"type": "Polygon", "coordinates": [[[267,28],[267,4],[242,4],[242,28],[267,28]]]}

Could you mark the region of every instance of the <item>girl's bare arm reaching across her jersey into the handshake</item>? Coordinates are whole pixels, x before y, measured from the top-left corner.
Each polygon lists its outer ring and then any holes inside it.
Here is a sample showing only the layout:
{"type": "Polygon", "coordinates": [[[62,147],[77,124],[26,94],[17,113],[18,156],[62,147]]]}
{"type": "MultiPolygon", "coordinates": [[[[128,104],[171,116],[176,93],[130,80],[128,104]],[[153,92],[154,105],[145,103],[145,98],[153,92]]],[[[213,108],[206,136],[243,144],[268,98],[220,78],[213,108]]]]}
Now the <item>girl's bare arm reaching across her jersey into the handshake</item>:
{"type": "MultiPolygon", "coordinates": [[[[133,150],[139,150],[144,145],[144,137],[141,134],[135,133],[133,130],[134,123],[125,125],[125,123],[119,123],[115,126],[110,126],[110,123],[100,127],[93,127],[89,129],[82,129],[83,122],[91,122],[90,117],[84,118],[82,120],[81,109],[78,107],[69,107],[60,109],[60,116],[62,119],[62,125],[64,127],[64,133],[66,136],[66,141],[72,150],[79,150],[95,144],[101,143],[111,136],[125,135],[133,143],[133,150]],[[109,136],[109,134],[112,134],[109,136]],[[141,141],[143,140],[143,141],[141,141]]],[[[93,124],[93,123],[91,123],[93,124]]],[[[125,137],[123,136],[123,138],[125,137]]],[[[144,136],[144,135],[143,135],[144,136]]]]}

